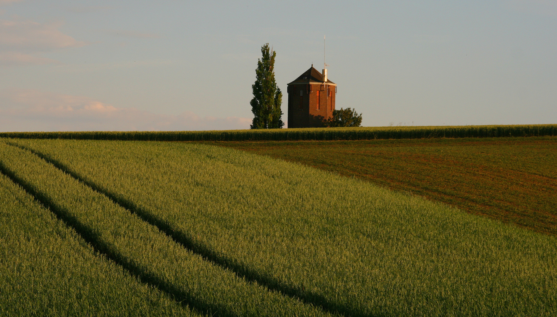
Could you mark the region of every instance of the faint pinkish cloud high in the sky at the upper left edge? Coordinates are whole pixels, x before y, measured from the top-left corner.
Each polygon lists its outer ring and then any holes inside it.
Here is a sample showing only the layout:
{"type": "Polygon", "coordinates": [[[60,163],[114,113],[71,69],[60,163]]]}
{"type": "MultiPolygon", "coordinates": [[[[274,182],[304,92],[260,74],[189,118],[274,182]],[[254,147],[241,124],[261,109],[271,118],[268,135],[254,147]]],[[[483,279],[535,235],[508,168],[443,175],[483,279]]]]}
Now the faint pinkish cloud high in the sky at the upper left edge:
{"type": "Polygon", "coordinates": [[[38,23],[30,20],[0,20],[0,65],[42,65],[56,63],[41,53],[87,45],[62,33],[62,22],[38,23]]]}

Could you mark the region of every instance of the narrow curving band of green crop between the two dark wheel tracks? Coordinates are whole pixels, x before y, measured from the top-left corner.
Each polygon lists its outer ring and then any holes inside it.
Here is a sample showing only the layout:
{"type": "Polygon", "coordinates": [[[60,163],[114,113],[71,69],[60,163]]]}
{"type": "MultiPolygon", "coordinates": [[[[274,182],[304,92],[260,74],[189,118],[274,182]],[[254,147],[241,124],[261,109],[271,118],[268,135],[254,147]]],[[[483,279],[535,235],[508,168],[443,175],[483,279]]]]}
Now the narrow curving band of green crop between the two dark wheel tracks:
{"type": "Polygon", "coordinates": [[[29,152],[2,145],[3,173],[143,282],[218,316],[324,316],[311,305],[239,279],[29,152]]]}

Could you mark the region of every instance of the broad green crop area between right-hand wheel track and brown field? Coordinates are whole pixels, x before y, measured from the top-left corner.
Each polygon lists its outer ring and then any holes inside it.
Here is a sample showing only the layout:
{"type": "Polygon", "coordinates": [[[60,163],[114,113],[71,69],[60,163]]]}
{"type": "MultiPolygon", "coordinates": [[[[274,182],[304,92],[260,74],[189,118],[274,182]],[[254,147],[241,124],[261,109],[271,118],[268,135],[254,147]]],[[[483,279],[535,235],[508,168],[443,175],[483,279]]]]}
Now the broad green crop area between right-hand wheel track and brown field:
{"type": "Polygon", "coordinates": [[[553,236],[204,144],[8,142],[142,214],[204,259],[333,313],[557,313],[553,236]]]}

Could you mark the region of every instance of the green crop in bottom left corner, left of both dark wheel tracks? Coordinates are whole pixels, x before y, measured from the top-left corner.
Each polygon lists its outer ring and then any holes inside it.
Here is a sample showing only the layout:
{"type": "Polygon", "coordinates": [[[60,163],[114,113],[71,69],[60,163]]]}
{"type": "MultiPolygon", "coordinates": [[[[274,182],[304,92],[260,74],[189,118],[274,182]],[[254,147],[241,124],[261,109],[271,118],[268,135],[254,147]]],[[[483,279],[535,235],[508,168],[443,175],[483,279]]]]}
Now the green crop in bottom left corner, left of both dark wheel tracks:
{"type": "Polygon", "coordinates": [[[1,316],[196,316],[96,253],[0,174],[1,316]]]}

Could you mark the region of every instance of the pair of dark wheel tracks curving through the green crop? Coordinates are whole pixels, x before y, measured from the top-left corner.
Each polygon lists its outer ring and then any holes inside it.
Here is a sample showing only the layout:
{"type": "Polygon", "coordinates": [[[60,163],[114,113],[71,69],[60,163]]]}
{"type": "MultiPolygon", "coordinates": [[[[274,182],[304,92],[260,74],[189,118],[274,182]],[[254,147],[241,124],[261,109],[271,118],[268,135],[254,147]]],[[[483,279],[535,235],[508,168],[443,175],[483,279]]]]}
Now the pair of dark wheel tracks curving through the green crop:
{"type": "MultiPolygon", "coordinates": [[[[267,274],[263,274],[255,270],[250,270],[245,265],[238,264],[237,261],[234,261],[233,259],[230,259],[228,257],[218,255],[216,252],[211,250],[211,248],[204,246],[200,243],[194,242],[191,237],[185,235],[183,232],[174,231],[172,229],[172,226],[170,226],[169,223],[162,221],[159,218],[150,214],[149,212],[145,211],[144,209],[137,207],[133,202],[129,201],[128,199],[119,197],[119,195],[112,193],[105,188],[97,186],[97,184],[91,181],[87,181],[86,179],[82,178],[79,174],[72,172],[70,168],[66,167],[65,165],[58,162],[57,160],[52,159],[48,155],[37,152],[36,150],[27,148],[22,145],[13,144],[13,143],[8,143],[8,144],[23,150],[27,150],[28,152],[37,155],[37,157],[40,157],[46,162],[51,163],[56,168],[62,170],[62,172],[70,175],[71,177],[75,178],[77,181],[90,187],[92,190],[103,194],[104,196],[108,197],[111,201],[127,209],[131,213],[136,214],[138,217],[141,218],[141,220],[148,222],[150,225],[157,227],[160,231],[164,232],[165,235],[172,238],[174,242],[179,243],[184,248],[187,248],[193,253],[201,255],[204,260],[212,262],[213,264],[222,267],[222,269],[231,270],[232,272],[234,272],[234,274],[236,274],[237,277],[246,279],[248,281],[256,282],[257,284],[266,287],[270,291],[280,292],[284,296],[289,296],[291,298],[299,299],[303,303],[317,306],[325,311],[328,311],[332,315],[346,316],[346,317],[360,317],[360,316],[361,317],[364,316],[386,317],[384,315],[364,314],[363,312],[351,309],[350,307],[336,304],[326,299],[324,296],[320,294],[316,294],[315,292],[305,290],[303,286],[292,287],[290,285],[281,285],[279,280],[273,279],[267,274]]],[[[141,279],[141,281],[145,282],[146,284],[153,285],[157,287],[159,290],[167,292],[168,294],[174,296],[175,300],[179,301],[180,303],[182,301],[187,302],[187,304],[190,307],[193,307],[198,311],[216,311],[218,312],[216,313],[216,315],[222,315],[222,316],[230,315],[229,313],[223,313],[224,312],[223,308],[207,305],[206,303],[198,303],[196,299],[186,294],[186,292],[177,289],[177,287],[173,285],[164,284],[164,282],[158,280],[157,277],[149,275],[148,272],[141,271],[141,269],[139,269],[138,267],[130,265],[126,259],[120,259],[118,254],[112,254],[110,250],[108,250],[107,248],[102,246],[101,243],[99,243],[98,237],[94,236],[94,233],[92,233],[92,231],[89,228],[82,226],[74,218],[68,217],[65,212],[58,211],[56,209],[55,204],[53,204],[47,197],[44,197],[41,193],[36,192],[30,186],[26,186],[24,183],[22,183],[21,179],[15,177],[13,173],[6,171],[6,169],[4,168],[1,162],[0,162],[0,171],[6,174],[9,178],[11,178],[12,181],[20,184],[23,188],[26,189],[26,191],[31,193],[38,201],[43,203],[45,206],[51,208],[51,210],[55,212],[58,218],[65,221],[70,226],[74,227],[75,230],[87,242],[91,243],[91,245],[94,246],[95,250],[98,250],[101,253],[106,254],[109,257],[109,259],[125,267],[125,269],[129,270],[132,274],[138,276],[141,279]]]]}

